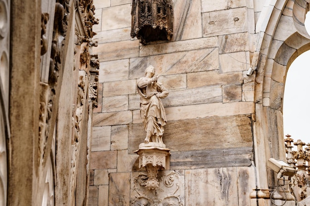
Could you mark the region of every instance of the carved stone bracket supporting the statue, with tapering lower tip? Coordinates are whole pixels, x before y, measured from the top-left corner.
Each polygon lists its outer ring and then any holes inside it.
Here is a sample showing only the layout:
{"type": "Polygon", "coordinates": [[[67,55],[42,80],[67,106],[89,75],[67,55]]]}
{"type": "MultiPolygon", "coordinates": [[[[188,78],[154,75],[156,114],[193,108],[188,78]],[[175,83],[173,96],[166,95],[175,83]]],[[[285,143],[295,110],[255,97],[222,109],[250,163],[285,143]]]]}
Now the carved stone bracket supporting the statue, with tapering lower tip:
{"type": "Polygon", "coordinates": [[[159,187],[158,171],[166,168],[166,160],[167,156],[170,155],[170,150],[155,146],[143,147],[141,144],[135,153],[139,155],[139,168],[145,167],[148,172],[146,187],[149,190],[156,190],[159,187]]]}

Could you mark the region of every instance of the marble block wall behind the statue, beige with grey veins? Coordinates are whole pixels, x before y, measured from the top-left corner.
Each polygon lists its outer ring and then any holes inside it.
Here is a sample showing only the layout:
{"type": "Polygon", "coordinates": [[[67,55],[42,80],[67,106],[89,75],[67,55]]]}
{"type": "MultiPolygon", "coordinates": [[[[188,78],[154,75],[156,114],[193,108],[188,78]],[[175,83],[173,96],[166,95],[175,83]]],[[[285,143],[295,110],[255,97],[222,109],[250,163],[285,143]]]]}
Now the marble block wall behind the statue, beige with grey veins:
{"type": "Polygon", "coordinates": [[[184,180],[182,204],[250,205],[256,187],[255,76],[246,73],[259,8],[248,0],[174,0],[172,40],[142,45],[130,37],[131,0],[95,5],[100,103],[93,119],[89,206],[129,206],[134,200],[134,151],[146,135],[136,83],[149,65],[169,91],[163,142],[171,150],[168,170],[184,180]]]}

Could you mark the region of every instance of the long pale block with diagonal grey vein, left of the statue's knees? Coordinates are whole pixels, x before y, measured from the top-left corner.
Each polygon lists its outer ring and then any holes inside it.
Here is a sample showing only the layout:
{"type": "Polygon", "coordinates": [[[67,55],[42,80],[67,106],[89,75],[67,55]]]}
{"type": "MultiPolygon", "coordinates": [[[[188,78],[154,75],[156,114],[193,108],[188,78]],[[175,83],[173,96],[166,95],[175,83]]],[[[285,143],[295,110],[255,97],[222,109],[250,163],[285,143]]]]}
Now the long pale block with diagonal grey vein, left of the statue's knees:
{"type": "Polygon", "coordinates": [[[96,113],[93,117],[94,126],[130,124],[131,122],[131,111],[96,113]]]}

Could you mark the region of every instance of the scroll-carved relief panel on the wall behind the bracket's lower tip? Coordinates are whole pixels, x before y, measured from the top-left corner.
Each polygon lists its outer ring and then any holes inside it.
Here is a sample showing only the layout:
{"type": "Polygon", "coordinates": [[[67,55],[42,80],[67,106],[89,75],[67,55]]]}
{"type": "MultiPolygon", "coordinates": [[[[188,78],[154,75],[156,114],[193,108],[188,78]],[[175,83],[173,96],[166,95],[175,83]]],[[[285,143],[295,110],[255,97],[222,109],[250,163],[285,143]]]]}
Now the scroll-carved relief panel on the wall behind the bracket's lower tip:
{"type": "Polygon", "coordinates": [[[158,188],[147,189],[148,174],[137,172],[131,178],[131,206],[183,206],[184,179],[170,170],[158,173],[158,188]]]}

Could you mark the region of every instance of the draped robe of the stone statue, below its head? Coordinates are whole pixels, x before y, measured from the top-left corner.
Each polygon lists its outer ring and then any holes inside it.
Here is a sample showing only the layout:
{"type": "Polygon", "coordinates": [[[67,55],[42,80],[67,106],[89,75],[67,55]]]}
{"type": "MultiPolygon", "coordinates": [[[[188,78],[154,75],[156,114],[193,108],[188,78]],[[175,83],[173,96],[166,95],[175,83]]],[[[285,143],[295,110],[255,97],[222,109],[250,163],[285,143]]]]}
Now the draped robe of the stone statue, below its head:
{"type": "Polygon", "coordinates": [[[155,135],[152,136],[153,142],[162,143],[163,126],[167,123],[167,119],[163,104],[155,94],[161,92],[161,98],[165,98],[169,93],[162,83],[152,82],[152,78],[140,78],[137,86],[141,96],[140,114],[144,119],[145,131],[151,131],[152,135],[155,135]]]}

